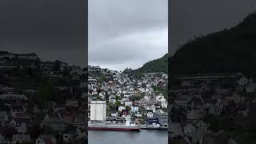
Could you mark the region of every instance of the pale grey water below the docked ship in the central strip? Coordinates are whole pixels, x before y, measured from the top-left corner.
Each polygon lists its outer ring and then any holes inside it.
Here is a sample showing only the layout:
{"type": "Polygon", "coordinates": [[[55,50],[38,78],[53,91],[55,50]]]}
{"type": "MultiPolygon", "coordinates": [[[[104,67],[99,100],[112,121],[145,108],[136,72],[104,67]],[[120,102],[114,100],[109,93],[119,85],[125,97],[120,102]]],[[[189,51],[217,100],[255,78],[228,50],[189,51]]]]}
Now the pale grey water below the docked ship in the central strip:
{"type": "Polygon", "coordinates": [[[88,130],[89,144],[167,144],[167,130],[102,131],[88,130]]]}

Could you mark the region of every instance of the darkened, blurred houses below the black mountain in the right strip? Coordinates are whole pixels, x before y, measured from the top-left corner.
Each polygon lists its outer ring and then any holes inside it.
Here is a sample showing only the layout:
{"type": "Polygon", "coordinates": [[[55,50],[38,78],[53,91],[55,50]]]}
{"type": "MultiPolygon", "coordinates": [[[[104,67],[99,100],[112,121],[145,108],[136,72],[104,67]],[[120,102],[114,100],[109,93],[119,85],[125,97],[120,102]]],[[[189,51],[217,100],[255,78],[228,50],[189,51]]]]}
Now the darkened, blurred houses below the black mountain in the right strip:
{"type": "Polygon", "coordinates": [[[173,143],[254,143],[256,80],[246,74],[172,78],[169,138],[173,143]]]}

